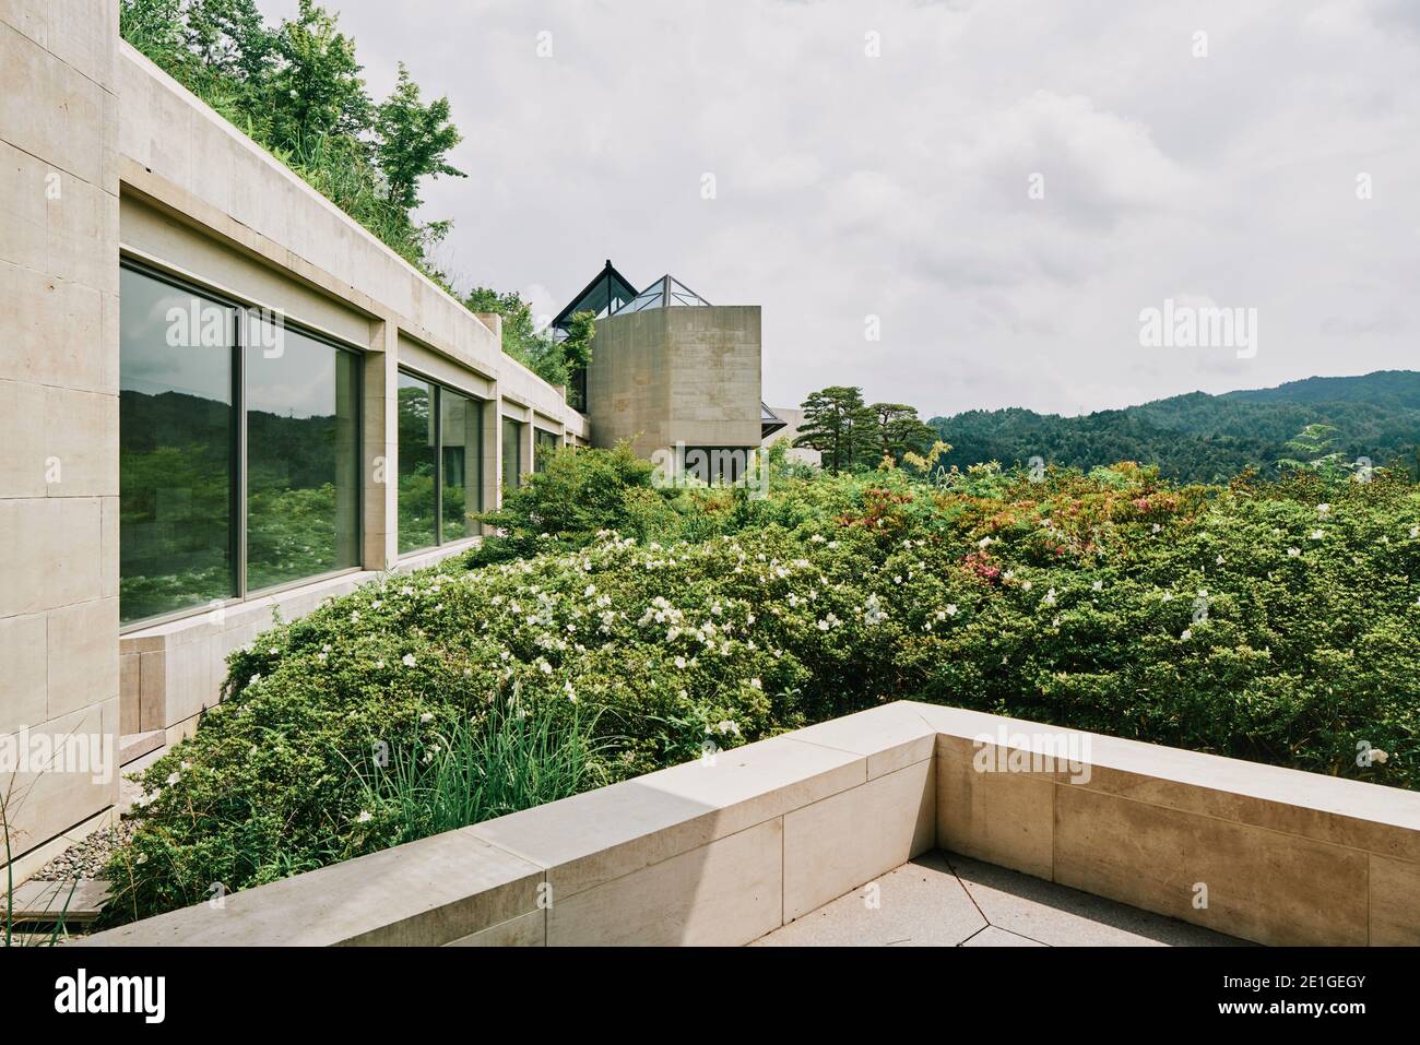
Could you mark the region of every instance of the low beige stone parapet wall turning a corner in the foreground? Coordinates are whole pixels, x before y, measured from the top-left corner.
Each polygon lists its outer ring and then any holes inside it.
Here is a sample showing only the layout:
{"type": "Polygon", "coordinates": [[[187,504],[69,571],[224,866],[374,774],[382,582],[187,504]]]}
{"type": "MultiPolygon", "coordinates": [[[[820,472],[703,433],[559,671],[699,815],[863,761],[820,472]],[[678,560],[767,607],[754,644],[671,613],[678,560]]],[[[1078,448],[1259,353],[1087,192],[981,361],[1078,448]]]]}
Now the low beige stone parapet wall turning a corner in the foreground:
{"type": "Polygon", "coordinates": [[[1420,794],[914,701],[85,943],[743,944],[939,846],[1258,943],[1420,943],[1420,794]]]}

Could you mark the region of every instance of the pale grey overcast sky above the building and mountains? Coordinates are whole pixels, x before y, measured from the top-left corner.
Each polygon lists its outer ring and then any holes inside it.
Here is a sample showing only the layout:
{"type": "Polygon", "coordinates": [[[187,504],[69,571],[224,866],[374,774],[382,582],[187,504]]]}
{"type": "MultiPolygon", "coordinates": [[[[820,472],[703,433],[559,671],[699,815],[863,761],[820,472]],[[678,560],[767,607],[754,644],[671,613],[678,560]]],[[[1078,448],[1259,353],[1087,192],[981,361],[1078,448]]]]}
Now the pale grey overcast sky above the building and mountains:
{"type": "Polygon", "coordinates": [[[758,304],[771,405],[1078,413],[1420,363],[1414,0],[325,4],[378,97],[396,60],[449,95],[452,273],[555,312],[609,257],[758,304]],[[1255,355],[1142,346],[1166,298],[1255,308],[1255,355]]]}

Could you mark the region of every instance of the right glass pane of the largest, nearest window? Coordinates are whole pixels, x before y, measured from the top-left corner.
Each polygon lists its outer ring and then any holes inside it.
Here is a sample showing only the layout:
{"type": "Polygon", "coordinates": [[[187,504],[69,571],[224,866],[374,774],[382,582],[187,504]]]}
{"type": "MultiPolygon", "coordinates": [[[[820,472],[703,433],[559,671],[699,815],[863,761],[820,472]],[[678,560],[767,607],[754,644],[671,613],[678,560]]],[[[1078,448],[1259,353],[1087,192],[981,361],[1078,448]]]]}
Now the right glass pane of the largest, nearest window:
{"type": "Polygon", "coordinates": [[[247,588],[359,565],[358,359],[248,314],[247,588]]]}

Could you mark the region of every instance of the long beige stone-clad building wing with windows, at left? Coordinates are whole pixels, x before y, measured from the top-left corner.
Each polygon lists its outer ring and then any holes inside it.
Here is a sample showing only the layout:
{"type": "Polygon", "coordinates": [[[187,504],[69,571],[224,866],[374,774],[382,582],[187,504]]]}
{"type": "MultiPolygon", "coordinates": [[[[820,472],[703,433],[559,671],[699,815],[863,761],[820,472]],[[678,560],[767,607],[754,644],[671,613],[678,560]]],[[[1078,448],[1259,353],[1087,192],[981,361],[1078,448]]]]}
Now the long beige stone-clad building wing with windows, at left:
{"type": "Polygon", "coordinates": [[[195,728],[230,650],[467,548],[535,447],[592,427],[503,354],[498,317],[122,43],[118,0],[0,6],[0,795],[23,877],[111,815],[115,761],[195,728]]]}

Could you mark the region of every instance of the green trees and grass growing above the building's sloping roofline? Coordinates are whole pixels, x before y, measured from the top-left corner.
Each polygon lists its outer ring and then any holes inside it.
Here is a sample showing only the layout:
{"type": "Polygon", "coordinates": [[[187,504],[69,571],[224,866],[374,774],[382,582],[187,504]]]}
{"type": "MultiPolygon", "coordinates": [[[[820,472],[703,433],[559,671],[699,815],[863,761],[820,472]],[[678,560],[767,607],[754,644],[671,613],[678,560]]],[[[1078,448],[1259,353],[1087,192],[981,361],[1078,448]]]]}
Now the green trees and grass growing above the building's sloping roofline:
{"type": "MultiPolygon", "coordinates": [[[[301,0],[297,16],[274,27],[256,0],[122,0],[119,27],[179,84],[454,292],[430,253],[452,223],[417,212],[426,177],[466,176],[449,162],[462,136],[449,99],[425,102],[403,62],[389,97],[373,101],[355,41],[315,0],[301,0]]],[[[568,354],[591,344],[584,337],[564,349],[534,332],[517,294],[476,288],[464,304],[501,312],[504,351],[555,386],[567,382],[568,354]]]]}

